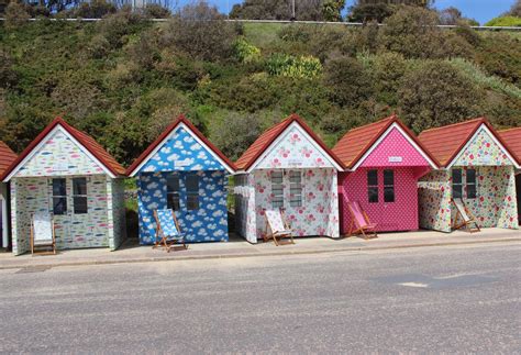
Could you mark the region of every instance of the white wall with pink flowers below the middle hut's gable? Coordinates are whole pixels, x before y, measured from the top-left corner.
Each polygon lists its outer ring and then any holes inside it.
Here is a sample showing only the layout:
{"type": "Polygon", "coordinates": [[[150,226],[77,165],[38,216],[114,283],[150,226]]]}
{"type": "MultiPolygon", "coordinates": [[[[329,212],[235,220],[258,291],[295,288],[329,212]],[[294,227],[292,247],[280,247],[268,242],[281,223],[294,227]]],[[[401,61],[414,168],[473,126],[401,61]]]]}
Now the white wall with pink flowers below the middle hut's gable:
{"type": "MultiPolygon", "coordinates": [[[[286,218],[297,236],[339,237],[339,193],[336,169],[291,169],[302,174],[302,206],[290,207],[289,184],[284,182],[286,218]]],[[[257,238],[266,233],[265,209],[273,209],[270,175],[273,169],[253,173],[255,179],[255,219],[257,238]]],[[[285,171],[289,171],[285,170],[285,171]]],[[[287,175],[286,175],[287,176],[287,175]]],[[[250,211],[253,213],[253,211],[250,211]]]]}

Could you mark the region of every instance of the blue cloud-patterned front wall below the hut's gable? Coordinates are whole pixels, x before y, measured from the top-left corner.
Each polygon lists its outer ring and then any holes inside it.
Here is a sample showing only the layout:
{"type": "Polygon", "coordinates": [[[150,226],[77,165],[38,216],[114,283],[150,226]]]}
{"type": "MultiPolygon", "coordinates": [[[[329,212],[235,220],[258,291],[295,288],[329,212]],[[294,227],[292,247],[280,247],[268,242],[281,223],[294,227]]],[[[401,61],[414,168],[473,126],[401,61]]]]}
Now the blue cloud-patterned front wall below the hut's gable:
{"type": "Polygon", "coordinates": [[[223,170],[165,171],[138,175],[137,207],[140,212],[140,242],[155,242],[156,223],[154,210],[167,208],[167,177],[179,175],[179,211],[176,211],[180,229],[188,242],[228,241],[228,178],[223,170]],[[197,174],[199,180],[199,209],[188,210],[185,177],[197,174]]]}

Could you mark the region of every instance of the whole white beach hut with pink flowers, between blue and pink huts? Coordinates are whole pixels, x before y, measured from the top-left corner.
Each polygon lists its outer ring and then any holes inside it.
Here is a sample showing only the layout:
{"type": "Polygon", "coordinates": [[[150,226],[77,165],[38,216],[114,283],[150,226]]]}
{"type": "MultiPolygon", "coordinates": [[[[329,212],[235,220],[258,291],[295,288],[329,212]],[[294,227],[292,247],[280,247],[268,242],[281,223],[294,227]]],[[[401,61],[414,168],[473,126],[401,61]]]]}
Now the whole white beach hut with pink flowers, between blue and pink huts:
{"type": "Polygon", "coordinates": [[[342,162],[297,114],[264,132],[236,162],[236,230],[265,236],[264,211],[284,208],[296,236],[339,237],[342,162]]]}

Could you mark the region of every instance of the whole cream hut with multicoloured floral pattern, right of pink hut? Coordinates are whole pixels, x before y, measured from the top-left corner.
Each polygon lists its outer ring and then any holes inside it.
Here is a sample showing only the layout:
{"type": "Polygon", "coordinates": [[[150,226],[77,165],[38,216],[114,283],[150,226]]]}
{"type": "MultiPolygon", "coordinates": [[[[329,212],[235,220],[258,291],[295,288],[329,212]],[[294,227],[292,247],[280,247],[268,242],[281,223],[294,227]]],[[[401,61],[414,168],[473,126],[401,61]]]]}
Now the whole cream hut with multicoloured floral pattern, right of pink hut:
{"type": "Polygon", "coordinates": [[[486,119],[426,130],[419,140],[440,163],[419,182],[421,228],[451,232],[457,200],[481,228],[518,229],[519,164],[486,119]]]}

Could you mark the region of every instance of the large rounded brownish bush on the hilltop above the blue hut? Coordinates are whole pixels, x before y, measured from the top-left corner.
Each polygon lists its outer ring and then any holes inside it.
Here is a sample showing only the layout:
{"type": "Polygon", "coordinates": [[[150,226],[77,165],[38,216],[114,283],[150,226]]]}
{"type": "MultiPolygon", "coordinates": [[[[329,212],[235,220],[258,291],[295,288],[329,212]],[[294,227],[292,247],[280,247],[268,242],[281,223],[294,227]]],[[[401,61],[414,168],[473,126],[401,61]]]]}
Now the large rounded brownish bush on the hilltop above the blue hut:
{"type": "Polygon", "coordinates": [[[223,20],[218,9],[204,1],[186,5],[169,20],[162,42],[197,59],[228,59],[233,55],[236,33],[223,20]]]}

